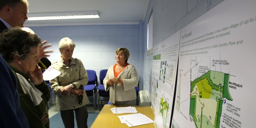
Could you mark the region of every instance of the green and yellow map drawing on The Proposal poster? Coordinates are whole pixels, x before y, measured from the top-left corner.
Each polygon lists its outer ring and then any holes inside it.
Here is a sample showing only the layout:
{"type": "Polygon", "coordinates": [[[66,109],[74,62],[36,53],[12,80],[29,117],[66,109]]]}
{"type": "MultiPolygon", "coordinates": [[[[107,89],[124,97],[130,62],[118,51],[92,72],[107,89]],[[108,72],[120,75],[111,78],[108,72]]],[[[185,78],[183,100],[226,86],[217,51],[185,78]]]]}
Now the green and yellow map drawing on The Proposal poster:
{"type": "Polygon", "coordinates": [[[228,82],[229,74],[211,70],[191,81],[189,115],[197,128],[219,128],[223,98],[233,100],[228,82]]]}

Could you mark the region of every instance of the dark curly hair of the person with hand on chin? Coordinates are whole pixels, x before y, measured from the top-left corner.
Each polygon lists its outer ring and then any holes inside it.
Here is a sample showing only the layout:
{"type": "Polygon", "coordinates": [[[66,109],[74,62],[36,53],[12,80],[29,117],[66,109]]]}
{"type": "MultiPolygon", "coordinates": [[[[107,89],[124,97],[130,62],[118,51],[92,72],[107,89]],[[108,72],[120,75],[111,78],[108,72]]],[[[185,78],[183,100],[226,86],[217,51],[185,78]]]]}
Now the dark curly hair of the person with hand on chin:
{"type": "Polygon", "coordinates": [[[10,28],[0,33],[0,54],[10,63],[13,55],[19,59],[26,59],[31,52],[30,48],[41,45],[41,38],[22,30],[20,27],[10,28]]]}

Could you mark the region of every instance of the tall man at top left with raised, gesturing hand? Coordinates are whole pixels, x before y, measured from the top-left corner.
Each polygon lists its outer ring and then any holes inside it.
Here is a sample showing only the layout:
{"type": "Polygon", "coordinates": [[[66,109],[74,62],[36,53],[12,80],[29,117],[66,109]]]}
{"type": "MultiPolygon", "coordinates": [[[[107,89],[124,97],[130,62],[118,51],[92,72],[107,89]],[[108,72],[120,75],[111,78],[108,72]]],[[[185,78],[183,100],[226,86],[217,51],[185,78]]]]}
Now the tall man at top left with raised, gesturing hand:
{"type": "MultiPolygon", "coordinates": [[[[0,0],[0,33],[12,27],[24,27],[24,22],[28,19],[27,13],[27,0],[0,0]]],[[[50,55],[46,53],[53,51],[45,50],[45,48],[52,46],[51,44],[45,45],[46,43],[47,41],[43,41],[43,45],[38,49],[37,56],[40,58],[40,63],[45,63],[43,65],[48,68],[50,61],[46,57],[50,55]]]]}

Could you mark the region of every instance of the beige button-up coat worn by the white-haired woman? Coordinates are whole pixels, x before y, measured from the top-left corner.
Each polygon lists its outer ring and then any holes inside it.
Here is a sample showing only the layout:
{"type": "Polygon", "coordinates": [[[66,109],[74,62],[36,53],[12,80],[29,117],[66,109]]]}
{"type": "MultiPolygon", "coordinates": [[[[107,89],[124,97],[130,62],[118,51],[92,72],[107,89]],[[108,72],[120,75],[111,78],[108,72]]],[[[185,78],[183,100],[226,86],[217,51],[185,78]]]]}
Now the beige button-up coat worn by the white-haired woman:
{"type": "Polygon", "coordinates": [[[59,76],[50,80],[51,88],[57,94],[56,108],[63,111],[80,108],[88,104],[89,100],[85,91],[83,92],[83,101],[81,105],[78,104],[78,95],[72,93],[64,95],[61,93],[61,89],[64,86],[70,86],[70,83],[76,85],[76,88],[79,88],[80,85],[87,85],[89,79],[82,61],[80,59],[71,58],[68,67],[60,58],[58,61],[52,63],[51,66],[61,72],[59,76]]]}

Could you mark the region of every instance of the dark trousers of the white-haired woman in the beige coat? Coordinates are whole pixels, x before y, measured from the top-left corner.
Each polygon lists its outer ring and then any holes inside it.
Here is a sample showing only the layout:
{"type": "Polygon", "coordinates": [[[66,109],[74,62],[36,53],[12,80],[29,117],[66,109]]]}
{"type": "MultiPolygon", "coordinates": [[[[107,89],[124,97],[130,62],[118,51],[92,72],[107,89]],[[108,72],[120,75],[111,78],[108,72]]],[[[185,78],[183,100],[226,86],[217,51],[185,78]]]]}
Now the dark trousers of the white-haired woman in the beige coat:
{"type": "Polygon", "coordinates": [[[61,119],[65,128],[74,128],[74,111],[76,115],[76,122],[78,128],[88,128],[87,126],[87,118],[88,111],[86,105],[81,108],[70,109],[65,111],[60,111],[61,119]]]}

